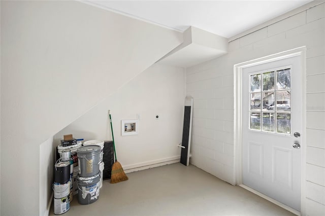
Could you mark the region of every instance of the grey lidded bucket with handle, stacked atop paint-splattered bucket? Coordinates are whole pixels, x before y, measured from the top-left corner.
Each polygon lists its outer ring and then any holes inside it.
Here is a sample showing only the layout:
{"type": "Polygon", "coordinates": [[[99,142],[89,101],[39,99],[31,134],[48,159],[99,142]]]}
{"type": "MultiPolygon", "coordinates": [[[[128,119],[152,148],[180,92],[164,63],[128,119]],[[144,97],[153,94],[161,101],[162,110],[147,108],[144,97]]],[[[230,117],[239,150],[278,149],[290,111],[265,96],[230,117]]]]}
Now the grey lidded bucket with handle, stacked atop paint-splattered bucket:
{"type": "Polygon", "coordinates": [[[101,147],[91,145],[83,146],[77,150],[79,175],[90,177],[100,172],[100,153],[101,147]]]}

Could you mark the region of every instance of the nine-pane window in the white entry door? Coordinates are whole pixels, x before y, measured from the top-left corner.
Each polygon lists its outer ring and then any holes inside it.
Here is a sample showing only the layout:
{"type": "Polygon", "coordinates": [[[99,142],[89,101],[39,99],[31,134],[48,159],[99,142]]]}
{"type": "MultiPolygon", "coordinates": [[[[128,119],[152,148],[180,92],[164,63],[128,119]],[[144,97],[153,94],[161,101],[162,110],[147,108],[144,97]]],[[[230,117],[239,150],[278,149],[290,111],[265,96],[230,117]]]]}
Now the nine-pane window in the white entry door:
{"type": "Polygon", "coordinates": [[[249,75],[249,129],[291,134],[290,67],[249,75]]]}

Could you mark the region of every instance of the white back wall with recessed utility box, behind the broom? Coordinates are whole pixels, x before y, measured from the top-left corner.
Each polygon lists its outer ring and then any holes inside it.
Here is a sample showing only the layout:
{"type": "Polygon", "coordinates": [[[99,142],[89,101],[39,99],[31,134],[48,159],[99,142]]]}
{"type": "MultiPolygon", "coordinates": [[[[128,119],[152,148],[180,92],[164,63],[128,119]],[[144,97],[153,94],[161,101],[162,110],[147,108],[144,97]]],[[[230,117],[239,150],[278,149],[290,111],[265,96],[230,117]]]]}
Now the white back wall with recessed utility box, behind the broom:
{"type": "Polygon", "coordinates": [[[184,69],[154,64],[55,135],[111,140],[111,110],[117,159],[125,172],[180,158],[185,99],[184,69]],[[121,136],[121,120],[140,114],[139,134],[121,136]],[[156,120],[155,116],[159,115],[156,120]]]}

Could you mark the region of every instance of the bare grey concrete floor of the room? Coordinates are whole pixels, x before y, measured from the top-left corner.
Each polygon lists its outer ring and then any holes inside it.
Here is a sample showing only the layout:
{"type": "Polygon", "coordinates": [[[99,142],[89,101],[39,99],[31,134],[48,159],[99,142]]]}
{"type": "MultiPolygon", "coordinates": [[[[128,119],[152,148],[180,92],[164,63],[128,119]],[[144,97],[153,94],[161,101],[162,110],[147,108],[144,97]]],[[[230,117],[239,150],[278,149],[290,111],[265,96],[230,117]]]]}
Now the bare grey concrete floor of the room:
{"type": "MultiPolygon", "coordinates": [[[[68,215],[294,215],[197,168],[175,163],[128,173],[128,181],[103,182],[99,199],[80,205],[74,196],[68,215]]],[[[53,214],[53,205],[50,210],[53,214]]]]}

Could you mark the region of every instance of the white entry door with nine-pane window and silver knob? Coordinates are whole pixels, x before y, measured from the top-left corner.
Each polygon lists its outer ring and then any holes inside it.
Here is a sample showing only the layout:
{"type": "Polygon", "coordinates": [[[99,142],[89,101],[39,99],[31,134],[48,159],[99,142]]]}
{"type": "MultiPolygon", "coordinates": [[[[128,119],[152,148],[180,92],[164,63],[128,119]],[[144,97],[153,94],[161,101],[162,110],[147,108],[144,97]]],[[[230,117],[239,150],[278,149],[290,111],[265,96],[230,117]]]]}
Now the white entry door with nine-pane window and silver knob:
{"type": "Polygon", "coordinates": [[[300,211],[301,57],[242,71],[243,184],[300,211]]]}

